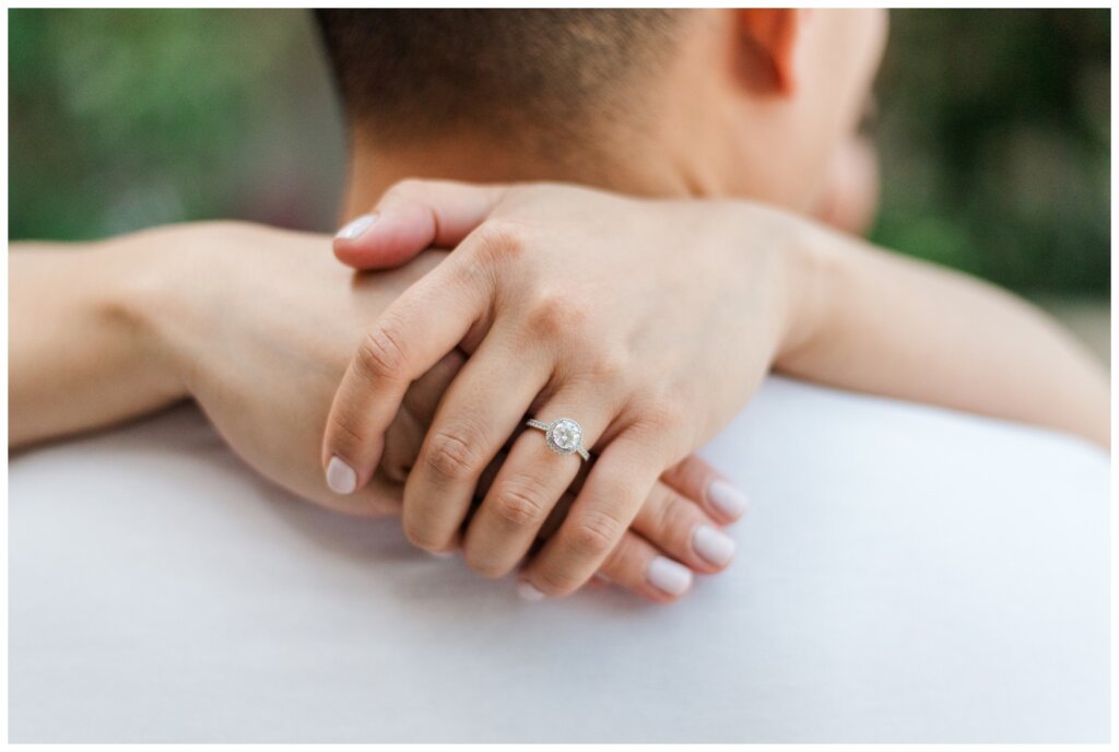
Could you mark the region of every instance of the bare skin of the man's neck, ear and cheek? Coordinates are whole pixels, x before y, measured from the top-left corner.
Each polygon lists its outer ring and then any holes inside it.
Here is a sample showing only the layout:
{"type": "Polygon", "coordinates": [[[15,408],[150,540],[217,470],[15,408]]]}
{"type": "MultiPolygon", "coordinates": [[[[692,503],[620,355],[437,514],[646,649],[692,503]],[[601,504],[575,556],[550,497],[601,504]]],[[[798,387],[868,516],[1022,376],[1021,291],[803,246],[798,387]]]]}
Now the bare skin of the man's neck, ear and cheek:
{"type": "MultiPolygon", "coordinates": [[[[816,213],[857,139],[886,39],[883,10],[703,9],[686,15],[648,111],[590,133],[617,147],[542,162],[476,131],[382,149],[351,123],[341,224],[407,178],[566,181],[645,197],[749,198],[816,213]]],[[[526,139],[526,144],[530,140],[526,139]]]]}

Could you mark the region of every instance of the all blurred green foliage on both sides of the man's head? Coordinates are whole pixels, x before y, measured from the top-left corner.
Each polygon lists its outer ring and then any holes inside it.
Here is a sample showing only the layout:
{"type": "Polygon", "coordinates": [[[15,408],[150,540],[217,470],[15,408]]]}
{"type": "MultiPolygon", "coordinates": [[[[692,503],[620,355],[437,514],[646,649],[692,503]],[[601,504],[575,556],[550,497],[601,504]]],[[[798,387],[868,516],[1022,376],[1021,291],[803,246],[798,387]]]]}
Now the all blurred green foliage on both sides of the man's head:
{"type": "MultiPolygon", "coordinates": [[[[8,19],[11,238],[332,227],[342,130],[309,13],[8,19]]],[[[1106,295],[1110,43],[1106,9],[894,11],[874,238],[1027,293],[1106,295]]]]}

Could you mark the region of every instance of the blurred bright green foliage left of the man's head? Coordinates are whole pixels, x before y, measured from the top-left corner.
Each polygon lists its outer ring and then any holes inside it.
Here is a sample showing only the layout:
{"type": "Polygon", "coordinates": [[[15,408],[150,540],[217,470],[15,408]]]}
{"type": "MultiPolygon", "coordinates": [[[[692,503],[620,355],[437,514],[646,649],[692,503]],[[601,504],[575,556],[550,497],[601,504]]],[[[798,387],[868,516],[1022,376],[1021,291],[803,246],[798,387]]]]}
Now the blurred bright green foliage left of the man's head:
{"type": "Polygon", "coordinates": [[[326,229],[341,123],[307,11],[10,10],[9,236],[326,229]]]}

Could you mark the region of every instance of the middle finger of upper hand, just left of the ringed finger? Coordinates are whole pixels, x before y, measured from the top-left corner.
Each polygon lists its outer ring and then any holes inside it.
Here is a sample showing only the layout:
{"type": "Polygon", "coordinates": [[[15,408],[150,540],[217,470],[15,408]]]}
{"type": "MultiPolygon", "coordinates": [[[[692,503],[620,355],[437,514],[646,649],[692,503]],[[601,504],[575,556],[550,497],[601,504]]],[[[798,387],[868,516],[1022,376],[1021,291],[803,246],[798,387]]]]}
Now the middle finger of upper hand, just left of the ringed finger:
{"type": "MultiPolygon", "coordinates": [[[[551,375],[544,356],[514,351],[508,342],[500,326],[490,331],[443,395],[427,430],[404,486],[404,534],[421,548],[450,545],[482,471],[551,375]]],[[[471,521],[470,529],[476,525],[471,521]]]]}

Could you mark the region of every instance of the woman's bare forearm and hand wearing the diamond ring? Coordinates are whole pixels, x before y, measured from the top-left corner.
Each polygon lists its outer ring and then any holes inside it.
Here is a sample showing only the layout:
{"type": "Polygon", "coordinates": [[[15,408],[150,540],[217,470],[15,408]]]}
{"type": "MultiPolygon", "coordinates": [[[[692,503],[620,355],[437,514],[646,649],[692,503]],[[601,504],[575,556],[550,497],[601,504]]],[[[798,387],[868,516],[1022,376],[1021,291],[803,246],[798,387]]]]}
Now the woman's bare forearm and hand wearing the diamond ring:
{"type": "MultiPolygon", "coordinates": [[[[458,247],[359,345],[322,461],[346,462],[364,483],[404,389],[463,347],[471,357],[405,485],[405,533],[429,551],[457,545],[479,477],[523,416],[575,416],[600,458],[523,573],[547,595],[593,574],[653,479],[725,425],[771,367],[1107,441],[1106,379],[1044,317],[792,215],[414,181],[386,195],[360,236],[336,239],[336,253],[377,267],[432,244],[458,247]]],[[[509,572],[576,469],[538,434],[517,439],[469,520],[468,563],[509,572]]]]}

